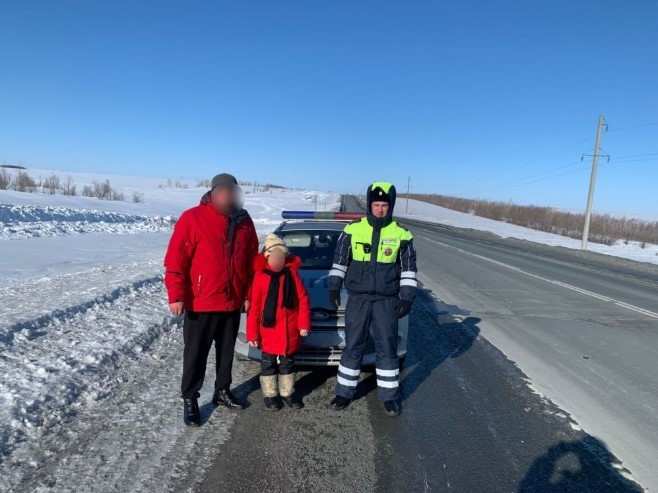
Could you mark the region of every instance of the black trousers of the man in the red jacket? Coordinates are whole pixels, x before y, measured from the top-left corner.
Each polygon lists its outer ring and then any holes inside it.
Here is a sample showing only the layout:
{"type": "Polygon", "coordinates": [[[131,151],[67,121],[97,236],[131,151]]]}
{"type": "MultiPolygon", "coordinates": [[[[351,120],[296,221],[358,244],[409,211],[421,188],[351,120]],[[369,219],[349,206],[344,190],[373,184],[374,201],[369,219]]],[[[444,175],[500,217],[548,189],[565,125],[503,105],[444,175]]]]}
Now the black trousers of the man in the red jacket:
{"type": "Polygon", "coordinates": [[[181,395],[184,399],[199,397],[206,375],[208,353],[215,342],[215,389],[231,386],[231,368],[235,339],[240,327],[240,311],[186,312],[183,325],[183,378],[181,395]]]}

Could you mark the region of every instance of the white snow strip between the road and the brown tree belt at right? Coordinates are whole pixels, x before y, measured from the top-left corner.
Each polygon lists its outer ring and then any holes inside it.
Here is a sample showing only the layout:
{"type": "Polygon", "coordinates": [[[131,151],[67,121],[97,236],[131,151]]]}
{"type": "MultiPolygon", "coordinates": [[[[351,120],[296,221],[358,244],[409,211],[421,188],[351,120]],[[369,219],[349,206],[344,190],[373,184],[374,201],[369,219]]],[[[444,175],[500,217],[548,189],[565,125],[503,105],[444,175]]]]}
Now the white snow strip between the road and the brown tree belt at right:
{"type": "MultiPolygon", "coordinates": [[[[427,202],[409,200],[409,212],[405,213],[406,199],[400,199],[396,209],[401,217],[429,221],[458,228],[477,229],[489,231],[503,238],[517,238],[519,240],[533,241],[545,245],[561,246],[565,248],[580,249],[580,240],[566,236],[545,233],[535,229],[517,226],[515,224],[494,221],[473,214],[446,209],[427,202]]],[[[637,242],[629,242],[628,245],[618,242],[614,245],[602,245],[600,243],[589,243],[589,249],[593,252],[615,257],[627,258],[638,262],[649,262],[658,264],[658,245],[646,245],[642,248],[637,242]]]]}

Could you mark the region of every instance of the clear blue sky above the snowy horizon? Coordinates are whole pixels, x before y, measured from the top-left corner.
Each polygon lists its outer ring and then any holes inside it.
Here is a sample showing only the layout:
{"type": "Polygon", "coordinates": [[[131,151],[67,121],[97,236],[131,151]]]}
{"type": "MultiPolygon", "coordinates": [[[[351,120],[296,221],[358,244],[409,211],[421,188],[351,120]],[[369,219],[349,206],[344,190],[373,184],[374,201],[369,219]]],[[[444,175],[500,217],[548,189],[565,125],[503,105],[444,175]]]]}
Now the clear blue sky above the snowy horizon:
{"type": "Polygon", "coordinates": [[[4,2],[0,162],[658,218],[658,3],[4,2]]]}

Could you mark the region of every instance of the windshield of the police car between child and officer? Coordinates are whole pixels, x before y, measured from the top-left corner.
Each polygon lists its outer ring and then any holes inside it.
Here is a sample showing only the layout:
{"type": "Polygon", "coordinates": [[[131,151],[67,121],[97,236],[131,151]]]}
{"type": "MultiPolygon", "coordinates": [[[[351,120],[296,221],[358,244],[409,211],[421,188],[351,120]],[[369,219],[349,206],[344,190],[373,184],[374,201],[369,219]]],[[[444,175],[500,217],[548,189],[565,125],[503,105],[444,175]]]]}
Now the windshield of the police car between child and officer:
{"type": "Polygon", "coordinates": [[[282,231],[290,253],[302,260],[302,269],[331,269],[340,231],[282,231]]]}

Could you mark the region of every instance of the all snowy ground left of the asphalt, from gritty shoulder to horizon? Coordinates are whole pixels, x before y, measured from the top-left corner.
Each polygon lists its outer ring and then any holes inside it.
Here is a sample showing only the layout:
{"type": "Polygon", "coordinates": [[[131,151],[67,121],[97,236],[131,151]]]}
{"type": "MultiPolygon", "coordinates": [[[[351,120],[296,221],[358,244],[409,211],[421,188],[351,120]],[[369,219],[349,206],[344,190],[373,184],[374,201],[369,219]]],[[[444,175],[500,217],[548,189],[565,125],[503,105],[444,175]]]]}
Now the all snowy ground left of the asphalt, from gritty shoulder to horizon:
{"type": "MultiPolygon", "coordinates": [[[[0,491],[180,490],[228,437],[233,415],[207,405],[206,426],[181,423],[182,335],[161,280],[170,217],[205,189],[111,180],[144,202],[0,191],[0,491]]],[[[316,201],[339,196],[245,194],[260,235],[316,201]]]]}

